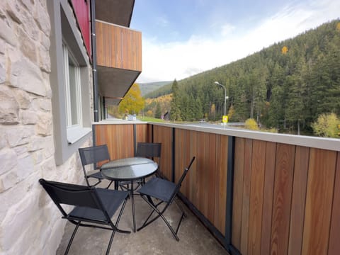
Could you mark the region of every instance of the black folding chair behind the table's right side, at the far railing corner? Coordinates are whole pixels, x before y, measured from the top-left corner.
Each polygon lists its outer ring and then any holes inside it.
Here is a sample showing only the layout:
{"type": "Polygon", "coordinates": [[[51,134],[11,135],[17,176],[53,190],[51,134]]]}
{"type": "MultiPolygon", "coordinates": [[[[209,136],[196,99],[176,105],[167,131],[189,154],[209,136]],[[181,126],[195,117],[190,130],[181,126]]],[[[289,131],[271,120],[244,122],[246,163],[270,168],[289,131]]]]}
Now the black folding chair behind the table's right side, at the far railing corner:
{"type": "MultiPolygon", "coordinates": [[[[137,142],[137,149],[135,152],[135,157],[147,157],[149,159],[154,159],[155,157],[159,158],[158,169],[156,175],[159,176],[159,165],[161,164],[161,151],[162,151],[162,143],[159,142],[137,142]]],[[[137,189],[140,185],[145,183],[145,179],[135,181],[137,186],[134,188],[137,189]]],[[[130,187],[130,181],[121,181],[119,183],[120,188],[123,190],[128,190],[130,187]]]]}

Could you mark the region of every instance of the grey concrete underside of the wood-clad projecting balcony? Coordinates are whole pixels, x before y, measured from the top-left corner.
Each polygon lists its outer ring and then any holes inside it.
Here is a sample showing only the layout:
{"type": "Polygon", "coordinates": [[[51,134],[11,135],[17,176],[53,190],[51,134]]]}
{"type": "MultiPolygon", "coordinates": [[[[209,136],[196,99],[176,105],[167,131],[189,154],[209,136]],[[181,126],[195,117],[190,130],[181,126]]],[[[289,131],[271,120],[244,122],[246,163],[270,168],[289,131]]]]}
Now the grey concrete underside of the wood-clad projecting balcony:
{"type": "Polygon", "coordinates": [[[140,71],[97,66],[98,91],[106,98],[106,103],[118,105],[125,96],[140,71]]]}

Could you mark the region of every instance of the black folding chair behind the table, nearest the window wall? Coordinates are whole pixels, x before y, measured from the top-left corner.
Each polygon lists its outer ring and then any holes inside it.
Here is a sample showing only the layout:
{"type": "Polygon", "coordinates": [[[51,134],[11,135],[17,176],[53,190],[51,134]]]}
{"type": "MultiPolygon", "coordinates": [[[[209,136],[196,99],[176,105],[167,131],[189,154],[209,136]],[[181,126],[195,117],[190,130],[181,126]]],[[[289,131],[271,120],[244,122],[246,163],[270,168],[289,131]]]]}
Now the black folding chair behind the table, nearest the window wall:
{"type": "MultiPolygon", "coordinates": [[[[98,183],[101,183],[101,180],[104,177],[101,175],[101,171],[97,169],[97,163],[99,162],[109,162],[110,154],[108,153],[108,147],[106,145],[98,145],[93,147],[79,148],[79,155],[81,159],[81,164],[83,166],[84,177],[88,186],[96,186],[98,183]],[[96,172],[93,174],[87,174],[85,166],[89,164],[95,164],[96,172]],[[93,185],[90,185],[89,179],[94,178],[97,179],[97,182],[93,185]]],[[[108,187],[111,186],[112,181],[108,184],[108,187]]],[[[108,188],[107,187],[107,188],[108,188]]]]}

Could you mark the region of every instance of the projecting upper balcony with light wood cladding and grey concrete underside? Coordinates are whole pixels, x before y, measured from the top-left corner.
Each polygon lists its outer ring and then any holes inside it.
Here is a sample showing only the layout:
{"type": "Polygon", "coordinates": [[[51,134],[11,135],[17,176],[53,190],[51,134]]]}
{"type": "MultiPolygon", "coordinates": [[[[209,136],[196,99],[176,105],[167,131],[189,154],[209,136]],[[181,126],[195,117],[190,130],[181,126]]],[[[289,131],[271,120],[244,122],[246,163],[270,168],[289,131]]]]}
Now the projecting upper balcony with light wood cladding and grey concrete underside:
{"type": "Polygon", "coordinates": [[[117,104],[142,72],[142,34],[97,20],[96,46],[99,94],[117,104]]]}

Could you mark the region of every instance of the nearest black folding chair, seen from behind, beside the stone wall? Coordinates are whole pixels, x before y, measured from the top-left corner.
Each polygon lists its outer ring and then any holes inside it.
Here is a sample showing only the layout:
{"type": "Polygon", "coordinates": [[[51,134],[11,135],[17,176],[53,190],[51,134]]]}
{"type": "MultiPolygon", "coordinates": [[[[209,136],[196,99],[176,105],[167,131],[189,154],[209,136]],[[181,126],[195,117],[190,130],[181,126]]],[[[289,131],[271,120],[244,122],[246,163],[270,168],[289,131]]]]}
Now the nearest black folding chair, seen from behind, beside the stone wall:
{"type": "Polygon", "coordinates": [[[62,218],[69,220],[76,227],[69,239],[65,254],[68,254],[78,227],[98,227],[101,229],[112,230],[110,242],[106,254],[109,253],[115,232],[129,234],[130,231],[118,229],[120,217],[123,214],[125,203],[129,193],[127,191],[114,191],[106,188],[96,188],[89,186],[79,186],[69,183],[46,181],[40,179],[39,183],[45,188],[57,208],[62,212],[62,218]],[[123,205],[122,205],[123,204],[123,205]],[[70,212],[64,210],[62,205],[75,205],[70,212]],[[121,209],[115,224],[111,217],[121,205],[121,209]],[[83,222],[86,222],[85,224],[83,222]],[[108,225],[103,227],[101,225],[108,225]]]}

